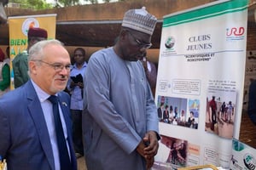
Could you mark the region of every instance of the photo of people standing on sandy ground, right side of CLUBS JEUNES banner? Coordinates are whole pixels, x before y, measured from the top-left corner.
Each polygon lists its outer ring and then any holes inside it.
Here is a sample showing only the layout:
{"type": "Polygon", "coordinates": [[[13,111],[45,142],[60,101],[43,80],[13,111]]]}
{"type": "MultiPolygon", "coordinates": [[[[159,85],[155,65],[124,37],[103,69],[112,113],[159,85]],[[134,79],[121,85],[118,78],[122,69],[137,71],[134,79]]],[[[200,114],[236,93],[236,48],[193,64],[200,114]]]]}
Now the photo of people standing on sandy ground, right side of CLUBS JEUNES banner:
{"type": "Polygon", "coordinates": [[[207,94],[206,132],[232,139],[236,122],[236,91],[228,82],[210,81],[211,90],[207,94]],[[226,86],[219,86],[219,84],[226,86]],[[214,84],[214,86],[213,86],[214,84]],[[221,89],[218,89],[221,88],[221,89]]]}

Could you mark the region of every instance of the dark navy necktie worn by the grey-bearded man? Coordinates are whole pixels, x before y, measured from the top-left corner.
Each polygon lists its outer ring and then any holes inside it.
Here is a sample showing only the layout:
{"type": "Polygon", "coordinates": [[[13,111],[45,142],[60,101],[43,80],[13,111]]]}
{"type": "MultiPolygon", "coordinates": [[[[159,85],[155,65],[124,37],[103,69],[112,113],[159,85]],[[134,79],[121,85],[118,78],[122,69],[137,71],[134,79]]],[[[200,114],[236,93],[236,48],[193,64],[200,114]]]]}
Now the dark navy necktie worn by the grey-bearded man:
{"type": "Polygon", "coordinates": [[[69,155],[67,151],[67,143],[66,143],[64,131],[61,124],[61,117],[60,117],[59,106],[58,106],[59,99],[55,95],[49,96],[48,99],[53,105],[53,114],[55,118],[55,133],[56,133],[58,150],[59,150],[61,170],[71,170],[72,169],[71,161],[69,159],[69,155]]]}

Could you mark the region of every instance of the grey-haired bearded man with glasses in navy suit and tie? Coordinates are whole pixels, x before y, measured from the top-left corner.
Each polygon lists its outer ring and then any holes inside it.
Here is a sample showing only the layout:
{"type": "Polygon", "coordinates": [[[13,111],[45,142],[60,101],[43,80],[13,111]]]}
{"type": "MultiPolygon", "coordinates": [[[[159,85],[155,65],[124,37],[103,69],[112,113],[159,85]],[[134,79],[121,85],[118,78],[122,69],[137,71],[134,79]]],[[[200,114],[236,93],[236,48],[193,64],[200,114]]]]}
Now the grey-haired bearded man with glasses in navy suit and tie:
{"type": "Polygon", "coordinates": [[[75,170],[69,95],[62,92],[70,72],[69,54],[61,42],[44,40],[30,48],[28,65],[31,79],[0,99],[0,156],[9,170],[75,170]],[[49,96],[58,99],[58,111],[49,96]]]}

